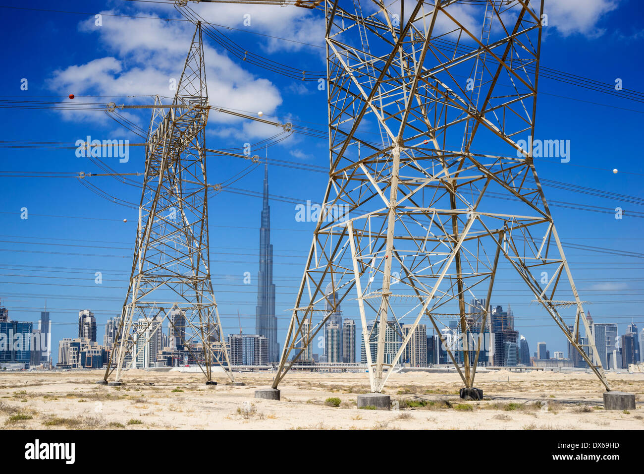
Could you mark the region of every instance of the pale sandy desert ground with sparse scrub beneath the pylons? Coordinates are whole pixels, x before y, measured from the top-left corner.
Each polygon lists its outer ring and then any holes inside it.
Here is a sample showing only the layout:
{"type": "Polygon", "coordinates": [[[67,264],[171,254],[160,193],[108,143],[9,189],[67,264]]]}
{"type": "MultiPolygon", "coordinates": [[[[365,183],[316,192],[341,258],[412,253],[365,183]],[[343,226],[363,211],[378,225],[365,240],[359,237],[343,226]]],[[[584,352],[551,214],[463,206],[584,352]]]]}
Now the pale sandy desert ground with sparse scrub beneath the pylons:
{"type": "Polygon", "coordinates": [[[637,409],[605,411],[590,373],[477,374],[484,400],[463,402],[456,373],[394,373],[384,392],[399,410],[358,410],[365,373],[290,372],[281,401],[254,399],[270,373],[218,373],[209,388],[195,373],[126,371],[121,387],[95,384],[102,371],[2,373],[3,429],[430,429],[641,430],[644,375],[609,374],[612,390],[636,393],[637,409]],[[327,401],[328,399],[339,399],[327,401]]]}

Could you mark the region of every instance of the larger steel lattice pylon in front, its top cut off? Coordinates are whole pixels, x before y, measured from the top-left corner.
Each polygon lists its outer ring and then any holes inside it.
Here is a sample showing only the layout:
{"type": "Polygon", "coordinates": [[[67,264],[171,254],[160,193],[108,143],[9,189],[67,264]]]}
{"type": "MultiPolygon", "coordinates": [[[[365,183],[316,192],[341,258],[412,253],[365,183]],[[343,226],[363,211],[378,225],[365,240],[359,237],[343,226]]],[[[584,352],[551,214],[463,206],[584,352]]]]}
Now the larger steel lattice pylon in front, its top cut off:
{"type": "Polygon", "coordinates": [[[359,3],[325,2],[329,181],[272,388],[344,300],[373,392],[421,318],[472,388],[495,277],[511,272],[610,390],[533,159],[543,0],[359,3]]]}

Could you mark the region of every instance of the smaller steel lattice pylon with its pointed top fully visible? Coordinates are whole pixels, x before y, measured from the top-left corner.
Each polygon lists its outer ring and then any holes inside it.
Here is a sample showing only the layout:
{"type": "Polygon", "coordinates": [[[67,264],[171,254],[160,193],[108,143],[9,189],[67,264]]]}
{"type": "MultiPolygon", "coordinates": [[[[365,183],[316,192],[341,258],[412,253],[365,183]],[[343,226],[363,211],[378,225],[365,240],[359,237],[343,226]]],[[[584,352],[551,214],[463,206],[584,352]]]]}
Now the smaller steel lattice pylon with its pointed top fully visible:
{"type": "Polygon", "coordinates": [[[142,335],[143,346],[158,337],[160,325],[149,331],[155,318],[168,321],[178,347],[200,366],[207,383],[213,364],[223,367],[224,361],[233,380],[209,264],[209,108],[198,24],[173,103],[164,106],[157,97],[153,108],[128,295],[104,380],[113,370],[120,380],[126,356],[133,363],[140,355],[142,335]]]}

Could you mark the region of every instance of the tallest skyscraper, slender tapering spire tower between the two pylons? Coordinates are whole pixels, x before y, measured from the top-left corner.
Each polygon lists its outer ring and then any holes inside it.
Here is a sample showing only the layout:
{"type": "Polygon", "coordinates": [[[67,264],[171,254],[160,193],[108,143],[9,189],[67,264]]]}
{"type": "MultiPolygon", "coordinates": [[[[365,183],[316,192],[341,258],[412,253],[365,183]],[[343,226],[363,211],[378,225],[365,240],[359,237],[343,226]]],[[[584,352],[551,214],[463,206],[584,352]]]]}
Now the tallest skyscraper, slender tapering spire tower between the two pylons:
{"type": "Polygon", "coordinates": [[[255,332],[269,342],[269,362],[279,360],[278,319],[275,316],[273,246],[270,243],[269,165],[264,165],[264,193],[260,222],[260,270],[257,272],[255,332]]]}

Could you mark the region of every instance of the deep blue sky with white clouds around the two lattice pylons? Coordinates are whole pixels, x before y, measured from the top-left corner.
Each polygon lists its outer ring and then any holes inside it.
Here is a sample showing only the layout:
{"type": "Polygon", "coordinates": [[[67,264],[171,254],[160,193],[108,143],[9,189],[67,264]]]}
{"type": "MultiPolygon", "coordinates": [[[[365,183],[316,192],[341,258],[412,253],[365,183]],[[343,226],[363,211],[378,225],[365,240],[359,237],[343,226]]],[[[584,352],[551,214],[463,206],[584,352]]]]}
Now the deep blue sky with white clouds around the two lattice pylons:
{"type": "MultiPolygon", "coordinates": [[[[5,5],[24,8],[17,1],[5,5]]],[[[544,28],[542,66],[606,84],[614,84],[619,78],[625,89],[644,89],[644,7],[639,1],[566,0],[546,5],[549,25],[544,28]]],[[[173,8],[127,1],[66,1],[53,7],[50,2],[33,1],[29,8],[65,12],[1,9],[0,38],[11,47],[5,49],[5,74],[0,77],[5,97],[0,99],[71,103],[66,97],[75,94],[75,103],[143,104],[151,103],[152,94],[172,95],[169,81],[180,74],[194,31],[189,22],[156,19],[178,18],[173,8]],[[95,25],[94,14],[98,13],[103,14],[101,26],[95,25]],[[21,90],[23,78],[28,80],[27,90],[21,90]]],[[[221,4],[193,8],[212,23],[236,28],[221,31],[242,49],[298,70],[325,70],[324,50],[317,47],[323,44],[319,13],[277,6],[221,4]],[[251,15],[250,26],[243,25],[247,13],[251,15]]],[[[212,105],[251,114],[261,110],[270,119],[290,119],[324,132],[327,97],[326,92],[317,90],[317,82],[274,74],[241,61],[209,37],[204,37],[204,42],[212,105]]],[[[593,92],[546,77],[540,80],[539,89],[536,135],[571,140],[571,161],[538,161],[540,177],[644,198],[638,143],[644,118],[642,99],[593,92]],[[612,173],[613,168],[619,172],[612,173]]],[[[90,135],[140,143],[102,111],[2,108],[0,116],[0,141],[73,144],[90,135]]],[[[147,129],[148,111],[127,116],[147,129]]],[[[211,112],[207,146],[240,152],[243,143],[256,143],[278,132],[271,126],[211,112]]],[[[294,134],[269,148],[269,163],[273,158],[327,166],[327,146],[327,139],[294,134]]],[[[261,147],[252,153],[265,156],[261,147]]],[[[28,177],[0,173],[3,306],[12,319],[37,321],[46,298],[53,341],[75,337],[78,311],[89,308],[97,317],[102,341],[104,322],[120,313],[125,297],[137,211],[91,193],[75,177],[33,175],[100,172],[87,159],[77,157],[73,148],[0,148],[0,156],[3,172],[28,172],[28,177]],[[21,208],[27,208],[28,219],[21,219],[21,208]],[[102,284],[95,284],[95,272],[102,272],[102,284]]],[[[128,163],[114,160],[109,166],[121,173],[142,172],[143,150],[132,147],[128,163]]],[[[208,166],[209,181],[221,183],[248,163],[233,157],[213,157],[208,166]]],[[[112,177],[88,179],[109,195],[138,202],[140,190],[136,186],[112,177]]],[[[262,179],[260,166],[232,186],[261,192],[262,179]]],[[[269,183],[272,195],[319,202],[326,177],[312,170],[270,166],[269,183]]],[[[587,310],[595,321],[618,322],[623,333],[632,318],[642,328],[643,221],[629,215],[629,211],[642,212],[641,205],[549,184],[544,187],[549,201],[626,210],[624,218],[617,220],[611,212],[552,208],[562,241],[639,253],[625,257],[567,249],[582,300],[593,303],[587,310]]],[[[294,304],[314,224],[296,221],[294,202],[273,199],[270,206],[276,313],[282,343],[290,317],[287,310],[294,304]]],[[[211,271],[216,275],[213,284],[224,331],[238,331],[239,310],[243,331],[254,332],[261,200],[222,192],[209,201],[209,210],[211,271]],[[252,275],[249,285],[243,284],[245,272],[252,275]]],[[[525,298],[493,298],[493,304],[506,307],[508,303],[515,311],[516,328],[526,335],[531,350],[536,350],[537,341],[547,341],[551,353],[565,351],[564,337],[543,311],[525,298]]],[[[357,316],[353,308],[343,310],[345,317],[357,316]]],[[[56,353],[54,347],[54,359],[56,353]]]]}

